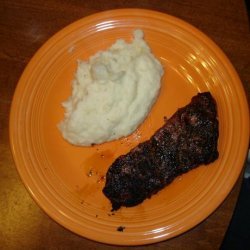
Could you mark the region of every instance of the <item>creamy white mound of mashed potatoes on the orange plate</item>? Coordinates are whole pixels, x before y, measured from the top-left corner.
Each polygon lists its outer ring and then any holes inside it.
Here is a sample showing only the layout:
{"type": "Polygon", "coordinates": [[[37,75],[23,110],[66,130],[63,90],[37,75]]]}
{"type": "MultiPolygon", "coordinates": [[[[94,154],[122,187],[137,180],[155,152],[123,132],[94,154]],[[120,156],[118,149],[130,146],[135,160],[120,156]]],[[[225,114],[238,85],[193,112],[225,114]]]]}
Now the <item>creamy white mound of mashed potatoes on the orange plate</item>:
{"type": "Polygon", "coordinates": [[[63,137],[89,146],[131,134],[155,102],[162,74],[141,30],[131,43],[119,39],[89,61],[78,61],[72,96],[62,103],[63,137]]]}

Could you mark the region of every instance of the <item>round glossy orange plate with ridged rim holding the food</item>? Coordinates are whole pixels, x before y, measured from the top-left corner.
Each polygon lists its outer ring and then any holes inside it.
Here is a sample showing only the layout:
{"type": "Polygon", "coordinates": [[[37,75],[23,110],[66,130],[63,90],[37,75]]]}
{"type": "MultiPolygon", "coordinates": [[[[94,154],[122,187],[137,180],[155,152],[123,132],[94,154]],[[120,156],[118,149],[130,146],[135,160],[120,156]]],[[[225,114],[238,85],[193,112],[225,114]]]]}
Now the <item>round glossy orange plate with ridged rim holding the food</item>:
{"type": "Polygon", "coordinates": [[[223,52],[191,25],[166,14],[111,10],[83,18],[49,39],[25,69],[10,117],[12,153],[35,201],[61,225],[100,242],[140,245],[169,239],[197,225],[225,199],[241,172],[248,148],[248,106],[239,77],[223,52]],[[127,138],[75,147],[57,129],[61,102],[71,95],[77,59],[87,59],[140,28],[165,75],[160,96],[139,129],[127,138]],[[197,92],[218,104],[217,161],[177,178],[133,208],[112,214],[102,193],[116,157],[149,138],[197,92]],[[92,175],[90,176],[90,172],[92,175]],[[123,232],[117,231],[124,226],[123,232]]]}

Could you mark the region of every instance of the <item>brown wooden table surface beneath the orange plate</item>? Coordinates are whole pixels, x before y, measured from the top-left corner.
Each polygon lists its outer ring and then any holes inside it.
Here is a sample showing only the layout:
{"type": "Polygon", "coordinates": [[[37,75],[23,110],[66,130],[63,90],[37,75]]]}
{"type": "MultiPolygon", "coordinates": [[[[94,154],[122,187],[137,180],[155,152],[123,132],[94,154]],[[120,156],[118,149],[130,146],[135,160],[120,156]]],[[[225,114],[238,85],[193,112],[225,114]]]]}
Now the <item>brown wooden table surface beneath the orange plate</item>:
{"type": "MultiPolygon", "coordinates": [[[[136,7],[177,16],[210,36],[227,54],[249,97],[250,43],[242,0],[1,0],[0,1],[0,248],[117,249],[68,231],[32,200],[15,168],[8,119],[17,81],[36,50],[71,22],[103,10],[136,7]]],[[[205,221],[174,239],[135,249],[218,249],[239,193],[240,180],[205,221]]],[[[121,249],[130,249],[121,247],[121,249]]]]}

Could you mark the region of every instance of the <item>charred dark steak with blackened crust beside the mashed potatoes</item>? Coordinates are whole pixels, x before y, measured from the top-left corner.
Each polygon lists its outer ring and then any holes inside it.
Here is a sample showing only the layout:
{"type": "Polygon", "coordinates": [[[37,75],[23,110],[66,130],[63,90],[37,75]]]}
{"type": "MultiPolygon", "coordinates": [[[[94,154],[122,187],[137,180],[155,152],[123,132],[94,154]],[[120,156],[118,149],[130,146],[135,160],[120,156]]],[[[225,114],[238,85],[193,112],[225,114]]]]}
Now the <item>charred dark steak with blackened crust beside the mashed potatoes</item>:
{"type": "Polygon", "coordinates": [[[218,136],[215,100],[209,92],[194,96],[150,140],[111,165],[103,193],[113,210],[135,206],[177,176],[215,161],[218,136]]]}

